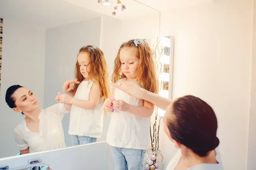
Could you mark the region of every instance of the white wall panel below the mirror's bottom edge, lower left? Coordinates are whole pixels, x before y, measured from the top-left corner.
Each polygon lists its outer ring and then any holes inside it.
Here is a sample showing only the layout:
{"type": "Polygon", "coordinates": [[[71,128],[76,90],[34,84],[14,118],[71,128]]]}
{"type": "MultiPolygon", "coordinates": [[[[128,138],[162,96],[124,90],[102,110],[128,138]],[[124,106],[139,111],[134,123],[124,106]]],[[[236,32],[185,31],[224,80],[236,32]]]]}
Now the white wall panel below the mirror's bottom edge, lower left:
{"type": "Polygon", "coordinates": [[[17,170],[16,167],[26,166],[28,160],[41,158],[53,170],[107,170],[107,150],[106,142],[79,145],[0,159],[0,167],[9,165],[11,170],[17,170]]]}

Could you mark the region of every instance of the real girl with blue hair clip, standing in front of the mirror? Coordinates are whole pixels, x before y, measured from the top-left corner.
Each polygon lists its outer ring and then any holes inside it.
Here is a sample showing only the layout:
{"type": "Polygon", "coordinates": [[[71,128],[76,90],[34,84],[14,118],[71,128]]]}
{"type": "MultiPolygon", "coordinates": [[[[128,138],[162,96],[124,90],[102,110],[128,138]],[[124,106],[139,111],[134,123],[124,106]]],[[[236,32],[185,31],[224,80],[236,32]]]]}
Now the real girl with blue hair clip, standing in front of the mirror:
{"type": "MultiPolygon", "coordinates": [[[[154,59],[145,40],[130,40],[120,46],[112,81],[136,82],[150,92],[157,92],[154,59]]],[[[112,113],[107,134],[115,170],[142,170],[154,104],[119,89],[113,90],[112,97],[115,100],[107,99],[104,107],[108,112],[113,112],[113,106],[120,111],[112,113]]]]}

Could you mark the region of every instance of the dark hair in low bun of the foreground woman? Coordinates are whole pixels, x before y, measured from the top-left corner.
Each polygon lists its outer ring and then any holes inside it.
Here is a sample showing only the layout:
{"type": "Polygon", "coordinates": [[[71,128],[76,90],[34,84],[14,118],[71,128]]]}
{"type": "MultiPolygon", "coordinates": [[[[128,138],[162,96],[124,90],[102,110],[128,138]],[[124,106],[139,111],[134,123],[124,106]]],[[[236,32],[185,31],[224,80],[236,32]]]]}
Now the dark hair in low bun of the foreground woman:
{"type": "Polygon", "coordinates": [[[172,104],[173,118],[168,128],[172,138],[198,156],[207,156],[219,145],[217,118],[212,107],[192,95],[178,98],[172,104]]]}

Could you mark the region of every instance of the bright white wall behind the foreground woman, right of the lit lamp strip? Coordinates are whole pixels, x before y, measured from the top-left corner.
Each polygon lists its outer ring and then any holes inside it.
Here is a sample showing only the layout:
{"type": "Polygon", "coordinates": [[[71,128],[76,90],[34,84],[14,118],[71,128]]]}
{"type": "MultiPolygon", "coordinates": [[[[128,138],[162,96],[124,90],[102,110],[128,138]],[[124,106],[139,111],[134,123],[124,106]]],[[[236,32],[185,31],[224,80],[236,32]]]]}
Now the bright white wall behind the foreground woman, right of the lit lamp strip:
{"type": "MultiPolygon", "coordinates": [[[[160,34],[175,37],[173,97],[192,94],[213,107],[226,170],[247,165],[252,16],[253,0],[215,0],[161,13],[160,34]]],[[[174,144],[161,138],[169,162],[174,144]]]]}

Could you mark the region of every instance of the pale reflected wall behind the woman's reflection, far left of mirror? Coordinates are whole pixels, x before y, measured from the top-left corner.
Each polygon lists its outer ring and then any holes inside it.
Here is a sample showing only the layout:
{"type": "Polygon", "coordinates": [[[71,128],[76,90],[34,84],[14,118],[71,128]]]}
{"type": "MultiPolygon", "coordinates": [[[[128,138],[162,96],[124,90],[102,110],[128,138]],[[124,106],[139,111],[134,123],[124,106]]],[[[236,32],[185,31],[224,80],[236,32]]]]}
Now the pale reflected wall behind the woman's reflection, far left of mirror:
{"type": "Polygon", "coordinates": [[[3,57],[0,97],[0,158],[19,151],[13,129],[23,118],[5,101],[9,86],[32,90],[44,106],[45,29],[3,19],[3,57]]]}

